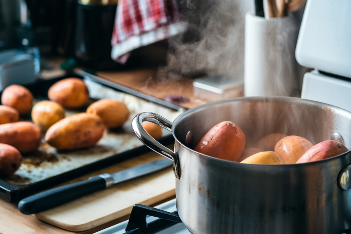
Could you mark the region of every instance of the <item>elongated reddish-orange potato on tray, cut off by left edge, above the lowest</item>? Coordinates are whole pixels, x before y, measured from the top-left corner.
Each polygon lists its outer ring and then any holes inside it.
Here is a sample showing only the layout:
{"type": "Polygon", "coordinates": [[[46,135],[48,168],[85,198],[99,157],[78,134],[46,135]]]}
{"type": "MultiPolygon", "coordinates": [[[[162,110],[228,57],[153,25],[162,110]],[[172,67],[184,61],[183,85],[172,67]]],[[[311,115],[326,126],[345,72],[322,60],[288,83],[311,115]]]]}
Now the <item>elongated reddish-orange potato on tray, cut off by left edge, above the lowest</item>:
{"type": "Polygon", "coordinates": [[[40,128],[31,122],[15,122],[0,125],[0,143],[11,145],[21,153],[37,150],[41,143],[40,128]]]}

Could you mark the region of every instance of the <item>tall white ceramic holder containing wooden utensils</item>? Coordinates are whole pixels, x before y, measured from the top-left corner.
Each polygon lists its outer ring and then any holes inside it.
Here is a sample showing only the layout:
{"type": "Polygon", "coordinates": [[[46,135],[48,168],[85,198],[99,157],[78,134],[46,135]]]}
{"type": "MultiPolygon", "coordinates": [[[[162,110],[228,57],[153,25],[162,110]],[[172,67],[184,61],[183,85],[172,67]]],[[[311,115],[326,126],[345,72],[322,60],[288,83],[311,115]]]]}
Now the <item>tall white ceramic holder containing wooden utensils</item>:
{"type": "Polygon", "coordinates": [[[245,96],[291,96],[300,85],[295,59],[299,24],[292,16],[245,16],[245,96]]]}

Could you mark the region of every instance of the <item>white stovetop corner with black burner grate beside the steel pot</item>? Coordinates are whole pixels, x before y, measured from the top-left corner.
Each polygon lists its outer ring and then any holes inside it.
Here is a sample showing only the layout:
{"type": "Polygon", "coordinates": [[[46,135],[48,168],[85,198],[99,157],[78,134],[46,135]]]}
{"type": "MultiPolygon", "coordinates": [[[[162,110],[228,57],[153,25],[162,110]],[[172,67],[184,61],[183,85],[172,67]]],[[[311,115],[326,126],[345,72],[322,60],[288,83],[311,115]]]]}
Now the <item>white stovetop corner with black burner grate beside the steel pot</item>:
{"type": "Polygon", "coordinates": [[[190,234],[190,232],[179,219],[176,199],[173,199],[154,208],[134,205],[129,220],[95,234],[190,234]]]}

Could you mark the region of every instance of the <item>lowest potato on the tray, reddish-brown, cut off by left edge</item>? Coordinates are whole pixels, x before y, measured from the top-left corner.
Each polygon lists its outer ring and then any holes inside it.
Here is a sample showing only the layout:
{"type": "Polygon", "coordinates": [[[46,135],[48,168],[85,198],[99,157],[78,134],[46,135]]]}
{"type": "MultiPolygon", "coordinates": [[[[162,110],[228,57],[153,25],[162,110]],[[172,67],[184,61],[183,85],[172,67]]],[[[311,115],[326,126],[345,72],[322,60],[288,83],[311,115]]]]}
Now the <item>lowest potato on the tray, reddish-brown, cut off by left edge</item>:
{"type": "Polygon", "coordinates": [[[22,155],[13,146],[0,143],[0,176],[7,177],[15,173],[22,163],[22,155]]]}

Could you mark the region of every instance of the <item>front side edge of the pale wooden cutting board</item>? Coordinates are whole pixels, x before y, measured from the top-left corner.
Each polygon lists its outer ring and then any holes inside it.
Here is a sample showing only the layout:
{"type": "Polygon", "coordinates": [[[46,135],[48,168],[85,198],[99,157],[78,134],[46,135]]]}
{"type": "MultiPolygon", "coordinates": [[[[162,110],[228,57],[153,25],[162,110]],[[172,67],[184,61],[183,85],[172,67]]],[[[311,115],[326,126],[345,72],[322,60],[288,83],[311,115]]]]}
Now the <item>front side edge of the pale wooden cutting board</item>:
{"type": "MultiPolygon", "coordinates": [[[[172,190],[169,190],[168,192],[165,192],[163,194],[160,194],[158,196],[155,196],[153,198],[150,198],[150,199],[147,199],[143,202],[139,202],[139,204],[142,204],[142,205],[146,205],[146,206],[150,206],[150,205],[153,205],[154,203],[156,203],[157,201],[162,201],[162,200],[165,200],[165,199],[168,199],[168,198],[171,198],[173,197],[174,195],[176,195],[176,189],[172,189],[172,190]],[[157,200],[157,201],[155,201],[157,200]]],[[[115,219],[119,219],[125,215],[129,215],[130,212],[132,211],[132,208],[133,206],[131,207],[127,207],[123,210],[119,210],[115,213],[112,213],[112,214],[108,214],[104,217],[101,217],[99,219],[96,219],[94,221],[91,221],[91,222],[87,222],[87,223],[82,223],[82,224],[79,224],[79,225],[67,225],[66,223],[62,223],[62,222],[58,222],[58,221],[55,221],[55,220],[52,220],[52,219],[48,219],[47,217],[45,216],[42,216],[40,213],[39,214],[34,214],[35,218],[43,221],[43,222],[46,222],[46,223],[49,223],[55,227],[59,227],[59,228],[62,228],[62,229],[65,229],[65,230],[68,230],[68,231],[71,231],[71,232],[82,232],[82,231],[86,231],[86,230],[89,230],[91,228],[94,228],[94,227],[97,227],[97,226],[100,226],[104,223],[107,223],[107,222],[110,222],[112,220],[115,220],[115,219]],[[116,216],[118,214],[118,216],[116,216]]]]}

